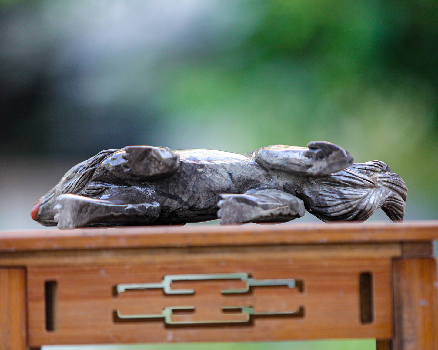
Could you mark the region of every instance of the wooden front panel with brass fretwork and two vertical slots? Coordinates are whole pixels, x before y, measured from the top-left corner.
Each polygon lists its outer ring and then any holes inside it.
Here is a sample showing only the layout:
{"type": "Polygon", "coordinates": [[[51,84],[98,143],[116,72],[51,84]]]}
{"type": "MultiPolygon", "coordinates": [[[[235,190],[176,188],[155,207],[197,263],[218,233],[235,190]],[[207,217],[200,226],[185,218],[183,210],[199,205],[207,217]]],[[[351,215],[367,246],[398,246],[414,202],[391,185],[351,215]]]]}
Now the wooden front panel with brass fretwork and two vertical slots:
{"type": "Polygon", "coordinates": [[[227,255],[226,260],[220,254],[202,259],[188,255],[124,266],[29,267],[28,308],[31,346],[386,339],[392,337],[391,261],[286,259],[261,252],[227,255]],[[170,293],[194,289],[194,294],[166,294],[160,287],[164,276],[187,274],[190,276],[176,277],[182,280],[169,283],[170,293]],[[284,283],[255,285],[247,293],[221,293],[246,287],[248,281],[238,278],[245,274],[255,284],[284,283]],[[372,281],[365,299],[360,298],[361,274],[372,281]],[[222,279],[216,278],[220,276],[222,279]],[[297,287],[284,285],[290,279],[297,281],[297,287]],[[129,283],[157,284],[155,288],[148,284],[147,289],[123,291],[123,285],[129,283]],[[362,308],[361,300],[365,304],[362,308]],[[364,320],[361,315],[367,304],[371,316],[364,320]],[[128,318],[117,317],[117,310],[128,318]],[[152,316],[132,316],[145,314],[152,316]]]}

